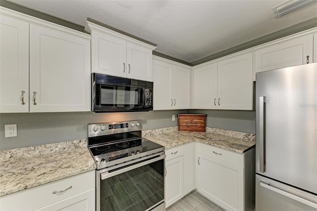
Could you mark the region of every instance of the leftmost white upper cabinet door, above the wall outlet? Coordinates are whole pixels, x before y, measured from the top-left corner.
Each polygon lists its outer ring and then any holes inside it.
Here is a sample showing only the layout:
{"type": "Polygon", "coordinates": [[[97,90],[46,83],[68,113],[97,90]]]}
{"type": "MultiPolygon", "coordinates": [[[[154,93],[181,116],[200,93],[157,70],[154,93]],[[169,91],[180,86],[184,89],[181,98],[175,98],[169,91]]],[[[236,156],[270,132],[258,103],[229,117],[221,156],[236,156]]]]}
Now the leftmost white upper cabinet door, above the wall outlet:
{"type": "Polygon", "coordinates": [[[28,98],[29,24],[1,15],[0,112],[29,112],[28,98]]]}

